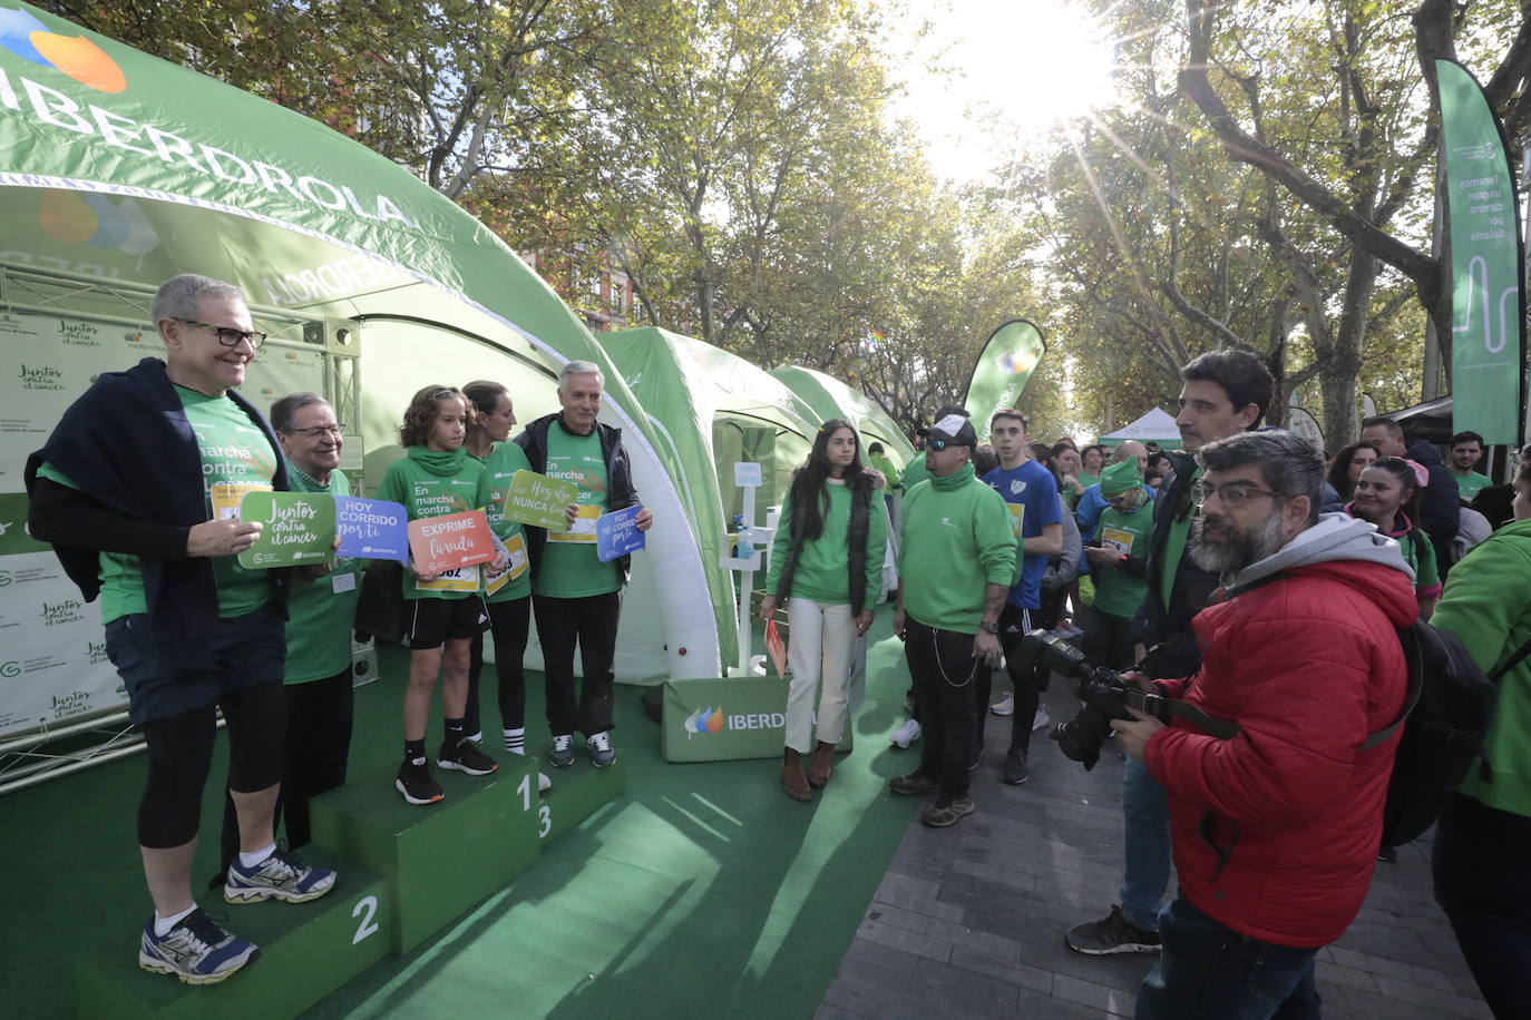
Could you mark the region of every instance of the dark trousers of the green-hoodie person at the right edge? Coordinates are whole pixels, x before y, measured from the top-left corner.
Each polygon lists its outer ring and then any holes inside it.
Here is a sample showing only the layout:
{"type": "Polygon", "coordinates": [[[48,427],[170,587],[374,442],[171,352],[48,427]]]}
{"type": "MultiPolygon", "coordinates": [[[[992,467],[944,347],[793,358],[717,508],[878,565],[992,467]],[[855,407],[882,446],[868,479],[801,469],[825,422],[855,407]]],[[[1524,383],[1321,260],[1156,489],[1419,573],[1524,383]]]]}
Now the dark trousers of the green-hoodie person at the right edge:
{"type": "Polygon", "coordinates": [[[1436,902],[1496,1017],[1531,1015],[1531,818],[1458,794],[1436,824],[1436,902]]]}

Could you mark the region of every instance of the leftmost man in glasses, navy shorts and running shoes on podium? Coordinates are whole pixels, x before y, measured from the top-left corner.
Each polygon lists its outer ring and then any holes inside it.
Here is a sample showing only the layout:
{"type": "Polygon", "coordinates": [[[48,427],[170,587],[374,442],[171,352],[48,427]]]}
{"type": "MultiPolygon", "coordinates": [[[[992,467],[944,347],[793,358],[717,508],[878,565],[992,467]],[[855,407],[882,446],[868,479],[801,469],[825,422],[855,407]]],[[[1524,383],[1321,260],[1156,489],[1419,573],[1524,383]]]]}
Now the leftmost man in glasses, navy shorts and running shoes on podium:
{"type": "Polygon", "coordinates": [[[239,853],[224,898],[300,902],[335,873],[277,849],[289,570],[250,570],[260,534],[245,492],[288,489],[271,427],[236,387],[265,339],[243,294],[179,275],[152,309],[165,359],[103,373],[26,465],[31,534],[54,543],[86,601],[101,599],[107,655],[149,746],[138,843],[155,913],[138,962],[191,985],[227,979],[257,948],[191,896],[191,856],[217,711],[239,853]]]}

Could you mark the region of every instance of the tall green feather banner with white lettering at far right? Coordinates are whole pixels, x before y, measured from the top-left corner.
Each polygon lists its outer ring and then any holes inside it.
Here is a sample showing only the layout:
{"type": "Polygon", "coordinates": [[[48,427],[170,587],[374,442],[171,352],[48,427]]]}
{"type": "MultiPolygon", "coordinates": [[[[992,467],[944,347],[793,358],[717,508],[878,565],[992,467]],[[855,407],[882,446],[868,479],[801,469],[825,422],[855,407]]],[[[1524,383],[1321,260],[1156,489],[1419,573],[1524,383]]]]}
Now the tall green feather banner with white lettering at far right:
{"type": "Polygon", "coordinates": [[[1450,60],[1435,66],[1451,214],[1451,428],[1519,443],[1525,258],[1514,171],[1473,75],[1450,60]]]}

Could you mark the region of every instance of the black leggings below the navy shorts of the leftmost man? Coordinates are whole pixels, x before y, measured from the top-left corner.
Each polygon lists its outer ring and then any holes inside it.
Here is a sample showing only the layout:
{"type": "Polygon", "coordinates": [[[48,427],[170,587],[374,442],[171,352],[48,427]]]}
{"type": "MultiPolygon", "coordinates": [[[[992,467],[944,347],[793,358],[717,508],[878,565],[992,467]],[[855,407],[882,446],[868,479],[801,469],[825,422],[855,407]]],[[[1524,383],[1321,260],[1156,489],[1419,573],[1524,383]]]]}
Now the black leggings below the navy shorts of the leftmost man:
{"type": "Polygon", "coordinates": [[[217,707],[228,720],[228,788],[254,794],[282,781],[286,699],[280,682],[224,691],[217,705],[145,722],[141,729],[149,745],[149,780],[138,803],[139,846],[168,850],[196,838],[217,707]]]}

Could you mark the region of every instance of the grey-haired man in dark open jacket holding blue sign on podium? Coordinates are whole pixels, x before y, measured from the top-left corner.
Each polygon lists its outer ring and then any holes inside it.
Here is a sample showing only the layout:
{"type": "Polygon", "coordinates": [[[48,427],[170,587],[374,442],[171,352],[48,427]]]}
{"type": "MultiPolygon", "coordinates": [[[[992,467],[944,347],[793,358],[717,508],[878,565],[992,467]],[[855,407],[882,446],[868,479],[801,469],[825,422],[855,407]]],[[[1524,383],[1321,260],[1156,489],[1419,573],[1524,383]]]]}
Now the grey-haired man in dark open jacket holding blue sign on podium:
{"type": "MultiPolygon", "coordinates": [[[[537,618],[544,673],[548,688],[548,728],[553,746],[548,765],[574,763],[574,731],[596,768],[617,760],[611,746],[611,684],[617,651],[617,621],[622,587],[628,583],[628,557],[611,563],[596,558],[596,518],[640,503],[632,488],[632,466],[622,447],[622,430],[596,421],[605,376],[589,361],[570,361],[559,372],[562,410],[527,425],[516,436],[531,469],[579,485],[579,499],[568,508],[570,529],[548,532],[527,528],[531,557],[531,609],[537,618]],[[585,667],[585,685],[576,697],[574,647],[585,667]]],[[[638,531],[654,525],[640,509],[638,531]]]]}

